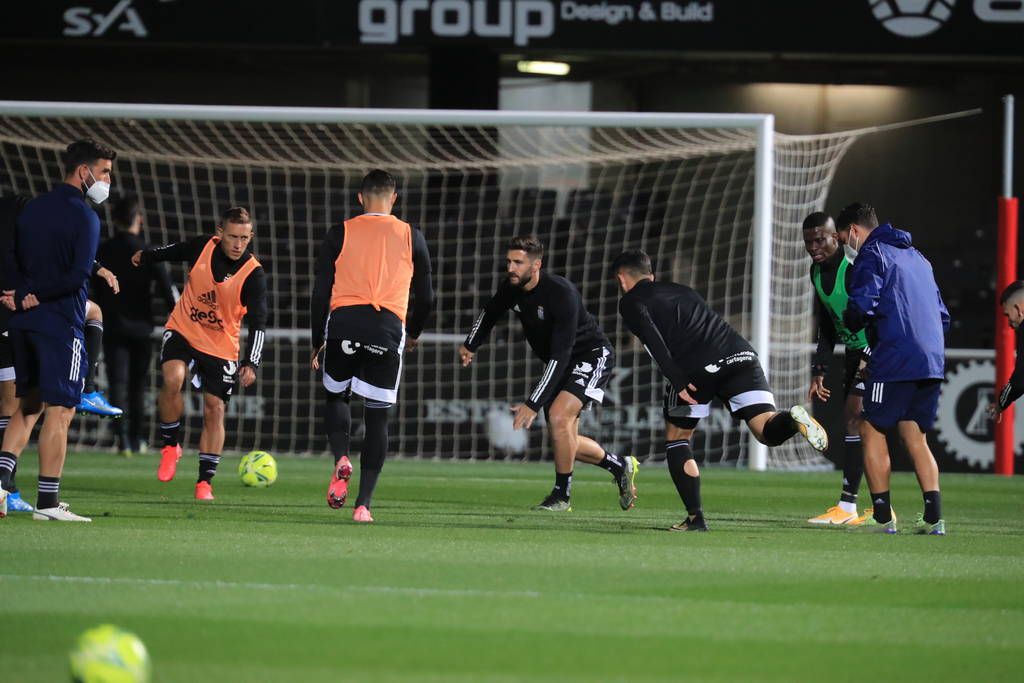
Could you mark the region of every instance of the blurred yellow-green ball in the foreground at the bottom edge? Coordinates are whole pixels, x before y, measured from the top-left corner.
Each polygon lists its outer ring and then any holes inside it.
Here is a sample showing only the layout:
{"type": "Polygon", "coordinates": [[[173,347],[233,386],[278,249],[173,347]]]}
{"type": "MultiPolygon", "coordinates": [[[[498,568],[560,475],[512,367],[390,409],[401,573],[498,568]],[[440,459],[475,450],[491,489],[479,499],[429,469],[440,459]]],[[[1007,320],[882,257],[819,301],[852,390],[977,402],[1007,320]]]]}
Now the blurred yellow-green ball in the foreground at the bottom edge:
{"type": "Polygon", "coordinates": [[[103,624],[78,637],[71,677],[76,683],[145,683],[150,653],[135,634],[103,624]]]}

